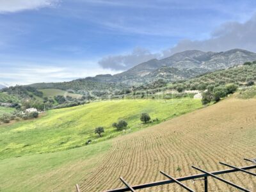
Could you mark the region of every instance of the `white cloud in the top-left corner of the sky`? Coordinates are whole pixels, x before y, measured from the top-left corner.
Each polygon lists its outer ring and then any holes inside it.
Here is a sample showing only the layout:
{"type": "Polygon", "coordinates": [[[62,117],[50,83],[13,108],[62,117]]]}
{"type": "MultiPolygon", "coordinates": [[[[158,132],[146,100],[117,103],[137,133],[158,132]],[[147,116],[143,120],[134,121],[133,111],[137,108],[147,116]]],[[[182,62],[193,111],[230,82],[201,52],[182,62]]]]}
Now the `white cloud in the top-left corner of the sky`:
{"type": "Polygon", "coordinates": [[[54,6],[58,0],[0,0],[0,13],[13,13],[54,6]]]}

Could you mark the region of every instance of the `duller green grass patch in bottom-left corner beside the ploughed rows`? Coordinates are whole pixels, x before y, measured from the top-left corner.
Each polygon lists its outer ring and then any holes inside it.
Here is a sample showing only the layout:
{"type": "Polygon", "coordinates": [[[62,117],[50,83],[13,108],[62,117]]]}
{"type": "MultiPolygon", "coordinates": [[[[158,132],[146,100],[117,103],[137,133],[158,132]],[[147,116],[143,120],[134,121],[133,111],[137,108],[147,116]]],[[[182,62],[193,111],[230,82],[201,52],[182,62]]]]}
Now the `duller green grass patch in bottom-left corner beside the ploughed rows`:
{"type": "Polygon", "coordinates": [[[95,145],[0,161],[0,191],[74,191],[111,147],[95,145]]]}

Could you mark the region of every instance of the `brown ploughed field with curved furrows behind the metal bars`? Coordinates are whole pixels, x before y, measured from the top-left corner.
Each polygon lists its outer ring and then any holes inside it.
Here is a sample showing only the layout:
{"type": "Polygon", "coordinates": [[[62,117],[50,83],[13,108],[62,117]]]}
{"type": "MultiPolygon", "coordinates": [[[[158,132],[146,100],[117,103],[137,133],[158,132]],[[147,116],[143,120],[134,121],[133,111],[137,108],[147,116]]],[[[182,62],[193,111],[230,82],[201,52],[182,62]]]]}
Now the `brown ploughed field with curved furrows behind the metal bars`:
{"type": "MultiPolygon", "coordinates": [[[[160,170],[173,177],[182,177],[200,173],[191,165],[214,171],[227,169],[219,161],[236,166],[252,164],[243,161],[244,157],[256,158],[256,100],[230,98],[114,139],[111,150],[79,186],[81,191],[104,191],[124,187],[120,176],[135,185],[166,179],[160,170]]],[[[220,177],[256,191],[256,178],[246,173],[228,173],[220,177]]],[[[204,189],[203,180],[189,180],[184,184],[195,191],[204,189]]],[[[166,184],[140,191],[183,189],[177,184],[166,184]]],[[[209,191],[238,190],[209,178],[209,191]]]]}

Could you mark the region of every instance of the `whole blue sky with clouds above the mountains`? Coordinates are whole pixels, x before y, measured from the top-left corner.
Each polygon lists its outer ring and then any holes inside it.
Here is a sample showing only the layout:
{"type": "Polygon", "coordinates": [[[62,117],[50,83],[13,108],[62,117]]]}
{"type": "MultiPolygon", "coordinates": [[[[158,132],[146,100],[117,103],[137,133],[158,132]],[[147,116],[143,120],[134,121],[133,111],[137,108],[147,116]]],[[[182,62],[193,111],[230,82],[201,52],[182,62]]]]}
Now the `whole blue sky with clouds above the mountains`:
{"type": "Polygon", "coordinates": [[[0,0],[0,84],[116,74],[198,49],[256,52],[256,1],[0,0]]]}

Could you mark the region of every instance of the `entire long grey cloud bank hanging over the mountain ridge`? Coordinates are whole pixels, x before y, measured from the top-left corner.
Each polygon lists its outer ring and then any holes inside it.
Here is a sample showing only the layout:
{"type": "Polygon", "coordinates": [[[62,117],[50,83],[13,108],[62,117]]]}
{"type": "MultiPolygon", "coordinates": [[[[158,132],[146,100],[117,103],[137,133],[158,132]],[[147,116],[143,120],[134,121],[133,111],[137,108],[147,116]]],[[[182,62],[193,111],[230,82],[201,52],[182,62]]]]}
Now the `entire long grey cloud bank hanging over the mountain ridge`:
{"type": "Polygon", "coordinates": [[[134,49],[131,54],[122,54],[116,56],[107,56],[99,61],[103,68],[113,70],[125,70],[134,67],[139,63],[151,60],[153,58],[166,58],[176,52],[186,50],[201,51],[227,51],[230,49],[246,49],[256,52],[256,15],[244,23],[225,22],[211,33],[211,37],[206,40],[182,40],[170,49],[152,54],[147,49],[134,49]]]}

